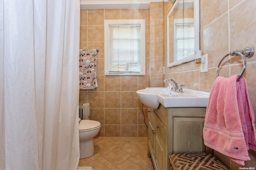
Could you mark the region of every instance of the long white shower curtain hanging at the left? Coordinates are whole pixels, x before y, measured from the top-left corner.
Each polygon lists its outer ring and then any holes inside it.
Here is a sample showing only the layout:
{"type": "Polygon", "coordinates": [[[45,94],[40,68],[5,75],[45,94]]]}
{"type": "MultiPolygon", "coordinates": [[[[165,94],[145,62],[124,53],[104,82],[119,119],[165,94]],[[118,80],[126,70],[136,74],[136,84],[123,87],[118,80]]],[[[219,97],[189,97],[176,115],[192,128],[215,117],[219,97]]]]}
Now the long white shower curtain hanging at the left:
{"type": "Polygon", "coordinates": [[[80,0],[0,0],[0,169],[79,161],[80,0]]]}

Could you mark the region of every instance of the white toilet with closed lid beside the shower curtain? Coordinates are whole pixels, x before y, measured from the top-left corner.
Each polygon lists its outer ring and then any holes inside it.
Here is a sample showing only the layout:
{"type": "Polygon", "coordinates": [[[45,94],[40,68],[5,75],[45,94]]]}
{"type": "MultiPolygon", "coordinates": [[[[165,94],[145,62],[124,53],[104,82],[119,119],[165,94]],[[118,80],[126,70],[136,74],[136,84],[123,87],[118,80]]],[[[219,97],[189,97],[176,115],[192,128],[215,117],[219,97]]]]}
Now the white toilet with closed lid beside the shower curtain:
{"type": "Polygon", "coordinates": [[[100,132],[100,123],[92,120],[81,120],[79,123],[80,159],[94,154],[93,137],[100,132]]]}

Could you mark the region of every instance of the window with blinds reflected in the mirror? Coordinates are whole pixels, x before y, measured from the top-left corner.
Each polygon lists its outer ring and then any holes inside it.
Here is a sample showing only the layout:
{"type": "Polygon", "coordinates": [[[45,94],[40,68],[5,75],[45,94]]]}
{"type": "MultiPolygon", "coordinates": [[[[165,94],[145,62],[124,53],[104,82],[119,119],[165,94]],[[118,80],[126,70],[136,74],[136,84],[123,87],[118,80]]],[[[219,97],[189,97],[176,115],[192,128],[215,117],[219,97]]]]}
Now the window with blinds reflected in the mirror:
{"type": "Polygon", "coordinates": [[[178,61],[194,54],[194,19],[175,19],[174,26],[174,61],[178,61]]]}

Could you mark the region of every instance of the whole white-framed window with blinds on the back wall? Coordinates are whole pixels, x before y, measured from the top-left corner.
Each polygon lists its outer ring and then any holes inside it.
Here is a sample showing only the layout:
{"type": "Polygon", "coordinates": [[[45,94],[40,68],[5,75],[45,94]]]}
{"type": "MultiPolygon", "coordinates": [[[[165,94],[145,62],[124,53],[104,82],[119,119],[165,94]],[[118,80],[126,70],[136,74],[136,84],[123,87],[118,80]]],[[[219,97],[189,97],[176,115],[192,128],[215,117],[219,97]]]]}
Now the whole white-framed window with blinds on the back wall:
{"type": "Polygon", "coordinates": [[[145,21],[105,20],[105,75],[145,75],[145,21]]]}

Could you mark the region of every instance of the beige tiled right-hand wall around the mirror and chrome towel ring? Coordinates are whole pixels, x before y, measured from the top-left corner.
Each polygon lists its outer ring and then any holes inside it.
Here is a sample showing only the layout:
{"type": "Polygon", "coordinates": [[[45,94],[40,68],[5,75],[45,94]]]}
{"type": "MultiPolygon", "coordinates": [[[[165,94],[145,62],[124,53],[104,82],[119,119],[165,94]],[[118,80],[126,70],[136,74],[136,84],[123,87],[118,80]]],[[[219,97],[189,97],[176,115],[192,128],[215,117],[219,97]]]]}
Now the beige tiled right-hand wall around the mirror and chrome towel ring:
{"type": "MultiPolygon", "coordinates": [[[[164,28],[166,16],[172,4],[163,4],[164,28]]],[[[208,72],[200,73],[199,65],[189,62],[175,67],[167,67],[166,29],[163,29],[164,61],[166,74],[164,78],[172,78],[178,84],[185,84],[186,88],[210,92],[216,79],[216,66],[220,59],[229,51],[242,49],[246,46],[256,48],[256,1],[255,0],[200,0],[200,50],[202,55],[208,54],[208,72]]],[[[242,71],[240,57],[226,57],[222,61],[219,75],[230,77],[242,71]]],[[[244,77],[247,81],[249,97],[256,113],[256,54],[247,59],[247,68],[244,77]]],[[[256,114],[255,114],[256,115],[256,114]]],[[[230,161],[226,156],[214,151],[214,154],[223,160],[230,169],[239,167],[256,168],[256,152],[250,150],[251,161],[241,166],[230,161]]]]}

